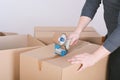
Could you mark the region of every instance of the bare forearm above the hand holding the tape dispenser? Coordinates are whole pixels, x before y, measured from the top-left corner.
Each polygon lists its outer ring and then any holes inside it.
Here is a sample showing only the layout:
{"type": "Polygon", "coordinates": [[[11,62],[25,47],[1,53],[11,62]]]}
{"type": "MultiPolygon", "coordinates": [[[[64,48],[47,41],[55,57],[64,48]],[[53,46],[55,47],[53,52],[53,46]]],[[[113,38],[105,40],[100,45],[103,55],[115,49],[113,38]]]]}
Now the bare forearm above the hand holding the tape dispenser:
{"type": "Polygon", "coordinates": [[[75,33],[80,34],[82,30],[90,23],[91,18],[87,16],[81,16],[78,22],[78,26],[75,29],[75,33]]]}

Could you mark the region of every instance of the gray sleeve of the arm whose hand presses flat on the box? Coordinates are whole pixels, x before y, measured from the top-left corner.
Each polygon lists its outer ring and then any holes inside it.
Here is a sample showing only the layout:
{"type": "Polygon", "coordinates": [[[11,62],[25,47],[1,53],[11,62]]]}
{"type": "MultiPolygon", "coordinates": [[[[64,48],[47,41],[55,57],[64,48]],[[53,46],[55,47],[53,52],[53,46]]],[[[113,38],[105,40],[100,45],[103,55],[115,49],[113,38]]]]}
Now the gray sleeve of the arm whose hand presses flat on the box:
{"type": "Polygon", "coordinates": [[[120,47],[120,24],[117,25],[116,29],[105,40],[103,46],[110,52],[113,52],[120,47]]]}

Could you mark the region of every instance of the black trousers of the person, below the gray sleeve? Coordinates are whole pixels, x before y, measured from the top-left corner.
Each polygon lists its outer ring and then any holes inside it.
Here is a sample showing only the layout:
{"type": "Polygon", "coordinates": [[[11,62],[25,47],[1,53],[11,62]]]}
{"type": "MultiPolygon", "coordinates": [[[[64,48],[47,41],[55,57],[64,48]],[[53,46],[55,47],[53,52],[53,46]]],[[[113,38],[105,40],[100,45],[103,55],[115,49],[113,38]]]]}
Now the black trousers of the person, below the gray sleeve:
{"type": "Polygon", "coordinates": [[[120,47],[109,56],[108,80],[120,80],[120,47]]]}

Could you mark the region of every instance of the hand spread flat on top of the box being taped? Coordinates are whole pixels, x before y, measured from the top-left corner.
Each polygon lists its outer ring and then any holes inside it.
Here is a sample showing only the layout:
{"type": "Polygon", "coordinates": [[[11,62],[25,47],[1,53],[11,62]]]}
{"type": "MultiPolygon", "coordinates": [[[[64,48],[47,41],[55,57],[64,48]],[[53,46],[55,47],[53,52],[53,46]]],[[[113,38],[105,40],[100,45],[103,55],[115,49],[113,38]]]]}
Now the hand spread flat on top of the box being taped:
{"type": "Polygon", "coordinates": [[[93,66],[97,62],[97,59],[95,58],[94,54],[83,53],[83,54],[74,56],[73,58],[69,59],[68,61],[71,64],[81,64],[78,71],[82,71],[82,70],[86,69],[87,67],[93,66]]]}

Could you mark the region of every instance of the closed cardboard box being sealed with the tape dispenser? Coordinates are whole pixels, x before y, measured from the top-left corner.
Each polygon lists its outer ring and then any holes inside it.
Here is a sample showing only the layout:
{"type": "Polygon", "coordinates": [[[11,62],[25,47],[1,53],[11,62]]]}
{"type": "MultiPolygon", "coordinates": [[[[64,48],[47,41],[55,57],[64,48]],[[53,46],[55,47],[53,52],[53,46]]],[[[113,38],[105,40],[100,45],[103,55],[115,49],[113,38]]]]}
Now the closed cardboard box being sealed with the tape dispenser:
{"type": "Polygon", "coordinates": [[[69,54],[54,54],[54,45],[25,52],[20,56],[20,80],[106,80],[107,57],[84,71],[77,72],[80,65],[67,60],[83,52],[94,52],[99,46],[80,42],[69,54]]]}

